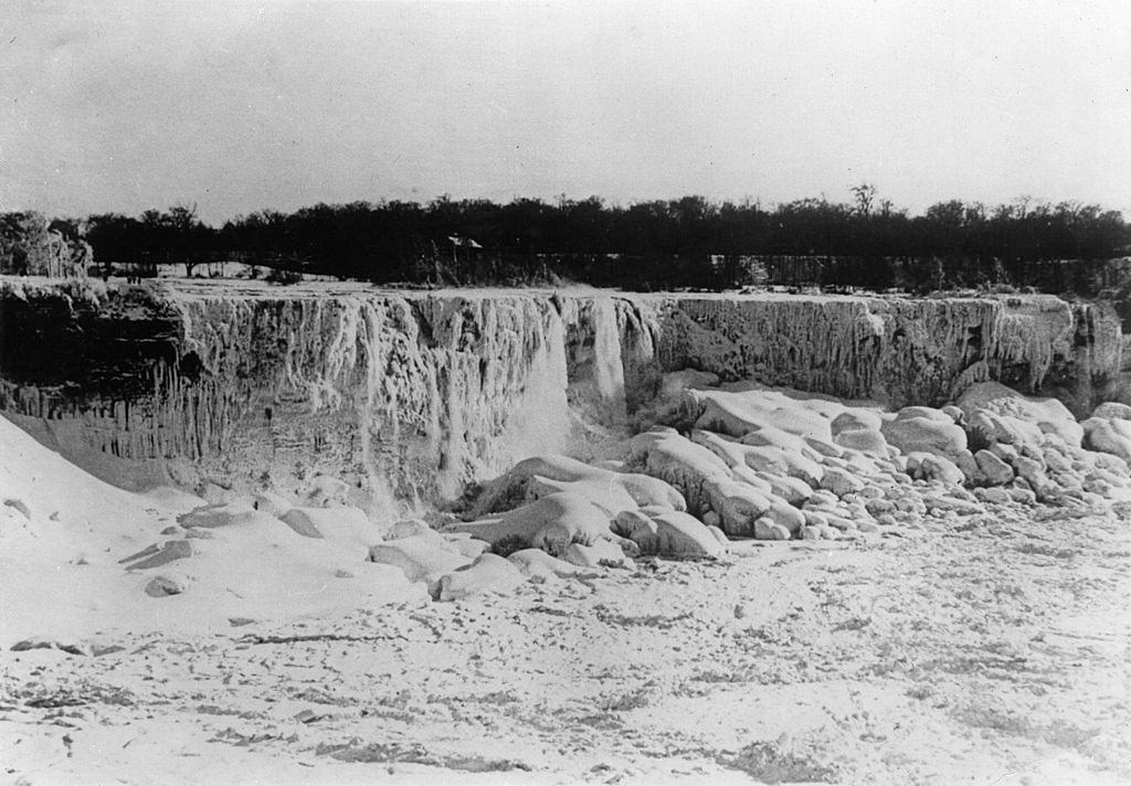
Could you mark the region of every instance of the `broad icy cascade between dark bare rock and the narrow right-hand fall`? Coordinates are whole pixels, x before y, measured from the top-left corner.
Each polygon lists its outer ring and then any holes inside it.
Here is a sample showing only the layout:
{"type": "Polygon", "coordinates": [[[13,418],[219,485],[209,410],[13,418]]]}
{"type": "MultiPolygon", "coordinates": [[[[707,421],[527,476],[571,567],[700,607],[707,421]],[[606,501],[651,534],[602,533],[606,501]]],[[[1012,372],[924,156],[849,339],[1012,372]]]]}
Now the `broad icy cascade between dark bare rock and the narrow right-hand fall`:
{"type": "Polygon", "coordinates": [[[563,327],[543,299],[351,293],[182,299],[178,309],[183,346],[208,374],[158,383],[157,399],[175,409],[164,418],[173,452],[253,460],[258,431],[271,458],[261,472],[347,475],[388,509],[394,498],[458,495],[470,480],[566,446],[563,327]],[[205,425],[206,414],[223,416],[205,425]],[[248,443],[233,444],[234,432],[248,443]]]}

